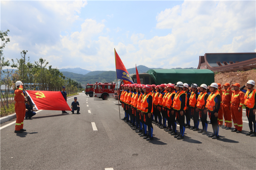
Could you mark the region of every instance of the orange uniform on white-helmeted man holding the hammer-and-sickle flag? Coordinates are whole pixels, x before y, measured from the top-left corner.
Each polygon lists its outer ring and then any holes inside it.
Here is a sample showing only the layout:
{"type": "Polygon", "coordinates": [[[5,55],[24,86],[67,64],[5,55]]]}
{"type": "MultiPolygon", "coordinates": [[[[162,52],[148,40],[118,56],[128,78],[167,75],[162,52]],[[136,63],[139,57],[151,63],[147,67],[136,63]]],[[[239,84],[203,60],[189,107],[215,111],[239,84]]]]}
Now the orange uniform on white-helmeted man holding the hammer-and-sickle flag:
{"type": "Polygon", "coordinates": [[[15,130],[20,130],[20,129],[23,129],[23,121],[26,114],[25,97],[23,94],[22,85],[20,85],[19,89],[15,90],[14,100],[15,100],[15,112],[17,117],[15,130]]]}

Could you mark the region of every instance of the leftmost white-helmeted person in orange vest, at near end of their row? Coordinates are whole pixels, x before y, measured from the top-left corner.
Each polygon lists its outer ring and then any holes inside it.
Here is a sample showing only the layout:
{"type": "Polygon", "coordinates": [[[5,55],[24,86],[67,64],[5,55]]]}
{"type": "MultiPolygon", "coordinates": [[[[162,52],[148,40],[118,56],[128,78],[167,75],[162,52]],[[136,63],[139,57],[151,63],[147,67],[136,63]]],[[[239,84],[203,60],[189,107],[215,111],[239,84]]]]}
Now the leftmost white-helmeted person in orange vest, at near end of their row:
{"type": "Polygon", "coordinates": [[[177,139],[183,139],[184,138],[184,133],[185,133],[185,113],[184,110],[186,110],[186,94],[183,91],[183,83],[182,82],[177,82],[176,85],[176,94],[174,96],[173,104],[172,107],[174,110],[172,110],[172,113],[177,114],[178,120],[180,123],[180,134],[175,135],[174,137],[177,139]]]}

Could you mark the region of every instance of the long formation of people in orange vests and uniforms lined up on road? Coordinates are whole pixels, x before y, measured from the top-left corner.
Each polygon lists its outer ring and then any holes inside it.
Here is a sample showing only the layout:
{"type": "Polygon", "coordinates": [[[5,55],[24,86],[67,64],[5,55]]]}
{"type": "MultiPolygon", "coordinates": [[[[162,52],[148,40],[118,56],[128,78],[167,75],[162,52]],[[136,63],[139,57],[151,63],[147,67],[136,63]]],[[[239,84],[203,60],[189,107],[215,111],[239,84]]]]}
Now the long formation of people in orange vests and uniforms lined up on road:
{"type": "Polygon", "coordinates": [[[249,80],[241,88],[238,83],[233,85],[212,83],[209,86],[202,84],[199,87],[193,83],[189,86],[182,82],[161,85],[122,84],[120,101],[125,113],[122,120],[147,141],[153,140],[152,124],[177,139],[184,139],[186,128],[212,139],[218,139],[219,128],[231,129],[232,120],[235,129],[231,131],[241,133],[242,107],[245,106],[250,128],[246,136],[255,137],[254,86],[253,80],[249,80]],[[223,87],[224,90],[221,90],[223,87]],[[247,91],[244,90],[245,87],[248,88],[247,91]],[[212,124],[212,134],[208,134],[207,131],[207,113],[212,124]],[[199,117],[202,129],[199,129],[199,117]],[[194,122],[193,126],[190,124],[191,118],[194,122]],[[177,124],[180,126],[179,134],[177,124]]]}

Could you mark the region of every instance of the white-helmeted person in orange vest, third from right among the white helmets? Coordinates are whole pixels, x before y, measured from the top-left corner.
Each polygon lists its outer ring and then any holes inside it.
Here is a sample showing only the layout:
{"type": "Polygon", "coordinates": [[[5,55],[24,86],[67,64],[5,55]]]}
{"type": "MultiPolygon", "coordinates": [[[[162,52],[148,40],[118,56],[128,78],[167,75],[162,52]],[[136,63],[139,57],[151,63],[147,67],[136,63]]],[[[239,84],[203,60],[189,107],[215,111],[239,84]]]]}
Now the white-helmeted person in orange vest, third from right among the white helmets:
{"type": "Polygon", "coordinates": [[[203,135],[207,135],[208,122],[207,122],[207,109],[205,108],[206,100],[209,96],[209,94],[206,92],[207,85],[202,84],[197,89],[200,90],[200,94],[197,98],[197,104],[196,104],[197,108],[196,109],[198,109],[199,116],[200,116],[202,126],[203,126],[203,129],[198,131],[198,133],[202,133],[203,135]]]}

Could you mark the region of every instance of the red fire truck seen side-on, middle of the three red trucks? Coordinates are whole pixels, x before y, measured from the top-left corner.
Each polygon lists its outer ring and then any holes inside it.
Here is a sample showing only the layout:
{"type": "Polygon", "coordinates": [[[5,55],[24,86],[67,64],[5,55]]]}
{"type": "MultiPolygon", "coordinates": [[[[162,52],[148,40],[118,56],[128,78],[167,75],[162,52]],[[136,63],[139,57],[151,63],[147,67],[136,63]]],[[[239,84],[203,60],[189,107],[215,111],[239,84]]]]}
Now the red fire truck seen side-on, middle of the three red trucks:
{"type": "Polygon", "coordinates": [[[116,83],[95,83],[94,84],[94,96],[107,100],[109,97],[114,96],[114,88],[116,83]]]}

